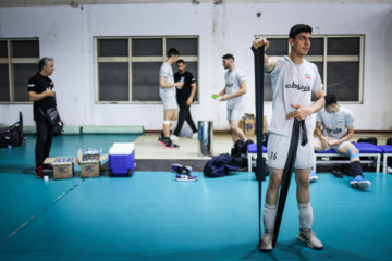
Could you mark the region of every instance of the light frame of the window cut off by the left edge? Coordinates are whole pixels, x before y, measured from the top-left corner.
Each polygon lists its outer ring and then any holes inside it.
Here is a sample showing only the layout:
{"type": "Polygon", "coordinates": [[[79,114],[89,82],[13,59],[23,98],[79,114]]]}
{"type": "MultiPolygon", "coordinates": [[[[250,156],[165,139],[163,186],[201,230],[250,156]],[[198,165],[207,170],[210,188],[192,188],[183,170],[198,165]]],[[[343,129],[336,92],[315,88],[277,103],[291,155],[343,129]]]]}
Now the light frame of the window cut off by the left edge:
{"type": "MultiPolygon", "coordinates": [[[[7,64],[9,67],[9,89],[10,89],[10,101],[0,101],[0,104],[32,104],[33,101],[15,101],[15,86],[14,86],[14,70],[13,64],[36,64],[38,66],[38,58],[12,58],[12,41],[38,41],[39,49],[39,38],[29,37],[29,38],[0,38],[0,41],[7,42],[7,58],[0,58],[0,64],[7,64]]],[[[38,50],[39,52],[39,50],[38,50]]],[[[40,54],[39,54],[40,55],[40,54]]],[[[37,69],[38,71],[38,69],[37,69]]],[[[33,76],[33,74],[32,74],[33,76]]],[[[27,92],[27,82],[26,79],[26,92],[27,92]]]]}

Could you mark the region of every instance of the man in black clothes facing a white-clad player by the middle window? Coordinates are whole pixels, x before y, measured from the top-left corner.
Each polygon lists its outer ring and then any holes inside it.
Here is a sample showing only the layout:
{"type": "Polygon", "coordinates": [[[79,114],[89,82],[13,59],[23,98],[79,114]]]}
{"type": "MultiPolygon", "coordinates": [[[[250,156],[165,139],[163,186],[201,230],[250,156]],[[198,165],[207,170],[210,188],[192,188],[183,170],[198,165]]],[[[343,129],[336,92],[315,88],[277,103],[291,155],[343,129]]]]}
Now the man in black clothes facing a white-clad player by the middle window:
{"type": "Polygon", "coordinates": [[[176,65],[179,72],[174,74],[174,82],[175,83],[183,82],[184,85],[182,88],[177,87],[176,90],[176,100],[180,107],[180,112],[179,112],[177,126],[173,135],[171,136],[171,139],[172,140],[179,139],[179,135],[181,128],[184,125],[184,121],[186,121],[192,128],[193,132],[192,138],[197,138],[197,128],[195,126],[194,121],[192,120],[191,110],[189,110],[189,107],[193,102],[193,98],[196,94],[196,79],[192,75],[192,73],[185,71],[186,64],[184,60],[179,60],[176,62],[176,65]]]}

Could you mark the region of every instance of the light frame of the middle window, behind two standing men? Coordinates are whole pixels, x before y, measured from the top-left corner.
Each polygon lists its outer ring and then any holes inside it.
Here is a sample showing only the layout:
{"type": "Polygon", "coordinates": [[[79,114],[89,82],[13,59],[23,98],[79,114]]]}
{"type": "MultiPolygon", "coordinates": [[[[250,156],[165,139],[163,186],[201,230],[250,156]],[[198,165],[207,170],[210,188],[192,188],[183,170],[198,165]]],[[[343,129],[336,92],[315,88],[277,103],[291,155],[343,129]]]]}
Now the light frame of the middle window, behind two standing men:
{"type": "MultiPolygon", "coordinates": [[[[134,101],[132,100],[133,90],[133,75],[132,63],[133,62],[160,62],[163,63],[167,60],[167,38],[173,39],[196,39],[197,40],[197,55],[181,55],[179,59],[183,59],[185,62],[197,62],[197,72],[199,72],[199,36],[198,35],[166,35],[166,36],[94,36],[94,71],[95,71],[95,103],[96,104],[162,104],[162,101],[134,101]],[[132,40],[133,39],[162,39],[162,55],[155,57],[132,57],[132,40]],[[102,39],[127,39],[128,41],[128,55],[127,57],[98,57],[98,41],[102,39]],[[100,62],[127,62],[128,63],[128,100],[127,101],[100,101],[99,97],[99,63],[100,62]]],[[[175,48],[175,47],[174,47],[175,48]]],[[[196,83],[198,83],[199,73],[197,73],[196,83]]],[[[157,78],[157,91],[159,87],[159,79],[157,78]]],[[[197,101],[194,104],[199,103],[199,88],[196,91],[197,101]]]]}

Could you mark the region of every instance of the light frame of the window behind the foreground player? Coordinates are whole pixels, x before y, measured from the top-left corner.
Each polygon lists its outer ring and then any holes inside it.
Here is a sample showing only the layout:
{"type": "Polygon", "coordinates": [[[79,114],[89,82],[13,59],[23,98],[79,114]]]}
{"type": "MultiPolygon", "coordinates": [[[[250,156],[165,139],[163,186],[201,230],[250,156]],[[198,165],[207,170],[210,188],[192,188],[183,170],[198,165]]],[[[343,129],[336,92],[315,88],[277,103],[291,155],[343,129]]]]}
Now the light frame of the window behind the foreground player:
{"type": "MultiPolygon", "coordinates": [[[[256,35],[255,38],[267,38],[267,39],[287,39],[287,50],[291,51],[291,45],[289,42],[289,37],[286,35],[256,35]]],[[[311,35],[311,38],[323,39],[323,54],[322,55],[305,55],[305,60],[309,62],[322,62],[322,85],[324,95],[328,94],[327,86],[327,63],[328,62],[358,62],[358,100],[357,101],[339,101],[343,104],[363,104],[364,103],[364,64],[365,64],[365,35],[364,34],[351,34],[351,35],[311,35]],[[359,38],[359,54],[358,55],[328,55],[328,39],[329,38],[359,38]]],[[[311,48],[311,46],[310,46],[311,48]]],[[[268,55],[268,50],[267,50],[268,55]]],[[[289,55],[289,53],[286,55],[289,55]]],[[[272,54],[273,55],[273,54],[272,54]]],[[[282,57],[282,55],[277,55],[282,57]]],[[[266,103],[272,103],[272,101],[265,101],[266,103]]]]}

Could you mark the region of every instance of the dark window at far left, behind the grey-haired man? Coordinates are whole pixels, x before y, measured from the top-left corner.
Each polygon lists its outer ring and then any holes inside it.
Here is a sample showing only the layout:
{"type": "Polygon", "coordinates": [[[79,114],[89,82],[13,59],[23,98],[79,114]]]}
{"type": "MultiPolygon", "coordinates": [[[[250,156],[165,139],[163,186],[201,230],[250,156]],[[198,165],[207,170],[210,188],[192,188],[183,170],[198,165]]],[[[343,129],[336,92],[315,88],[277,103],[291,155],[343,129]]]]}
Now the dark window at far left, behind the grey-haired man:
{"type": "Polygon", "coordinates": [[[0,39],[0,103],[28,102],[27,83],[38,62],[38,39],[0,39]]]}

